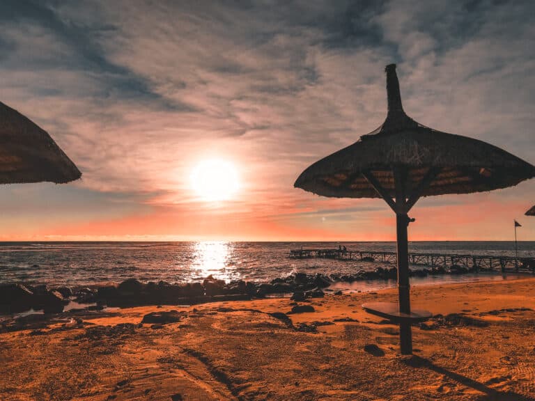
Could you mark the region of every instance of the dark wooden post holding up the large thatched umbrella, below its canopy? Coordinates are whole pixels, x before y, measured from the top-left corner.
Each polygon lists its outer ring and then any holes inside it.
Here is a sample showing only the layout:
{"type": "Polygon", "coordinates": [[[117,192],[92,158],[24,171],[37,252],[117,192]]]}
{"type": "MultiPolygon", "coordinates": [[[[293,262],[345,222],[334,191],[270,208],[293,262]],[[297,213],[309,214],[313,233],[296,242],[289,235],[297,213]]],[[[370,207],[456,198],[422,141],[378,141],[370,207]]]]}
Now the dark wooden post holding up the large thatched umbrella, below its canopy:
{"type": "MultiPolygon", "coordinates": [[[[410,314],[408,223],[407,214],[396,214],[399,311],[410,314]]],[[[399,340],[401,354],[412,354],[412,329],[409,321],[399,324],[399,340]]]]}

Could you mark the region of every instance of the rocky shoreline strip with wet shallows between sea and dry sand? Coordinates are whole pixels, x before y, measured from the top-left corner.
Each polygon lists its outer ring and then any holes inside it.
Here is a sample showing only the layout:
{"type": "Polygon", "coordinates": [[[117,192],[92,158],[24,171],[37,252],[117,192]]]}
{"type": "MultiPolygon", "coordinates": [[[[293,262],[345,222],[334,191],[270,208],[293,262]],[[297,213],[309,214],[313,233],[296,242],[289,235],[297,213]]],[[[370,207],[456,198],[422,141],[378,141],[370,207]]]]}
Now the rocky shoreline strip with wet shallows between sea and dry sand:
{"type": "MultiPolygon", "coordinates": [[[[411,276],[411,286],[417,288],[447,283],[511,281],[533,275],[494,271],[451,272],[442,269],[437,272],[413,270],[411,276]]],[[[371,292],[396,288],[396,285],[396,269],[381,267],[373,272],[361,270],[354,275],[296,273],[274,278],[270,283],[242,280],[226,282],[210,275],[201,283],[180,284],[165,281],[141,283],[136,278],[121,283],[59,288],[50,288],[46,284],[4,284],[0,285],[0,316],[61,313],[73,308],[102,310],[107,307],[194,305],[265,297],[291,296],[291,299],[302,301],[307,298],[323,298],[329,293],[371,292]]]]}

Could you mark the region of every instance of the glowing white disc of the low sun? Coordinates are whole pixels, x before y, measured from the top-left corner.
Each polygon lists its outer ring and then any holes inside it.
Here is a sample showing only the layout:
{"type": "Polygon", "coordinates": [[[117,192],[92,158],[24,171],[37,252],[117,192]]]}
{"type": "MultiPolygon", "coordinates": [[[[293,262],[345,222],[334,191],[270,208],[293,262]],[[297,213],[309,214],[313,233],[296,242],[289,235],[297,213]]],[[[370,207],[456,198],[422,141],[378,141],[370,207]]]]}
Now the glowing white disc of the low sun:
{"type": "Polygon", "coordinates": [[[240,187],[235,166],[221,159],[207,159],[197,164],[191,181],[195,193],[207,202],[228,201],[240,187]]]}

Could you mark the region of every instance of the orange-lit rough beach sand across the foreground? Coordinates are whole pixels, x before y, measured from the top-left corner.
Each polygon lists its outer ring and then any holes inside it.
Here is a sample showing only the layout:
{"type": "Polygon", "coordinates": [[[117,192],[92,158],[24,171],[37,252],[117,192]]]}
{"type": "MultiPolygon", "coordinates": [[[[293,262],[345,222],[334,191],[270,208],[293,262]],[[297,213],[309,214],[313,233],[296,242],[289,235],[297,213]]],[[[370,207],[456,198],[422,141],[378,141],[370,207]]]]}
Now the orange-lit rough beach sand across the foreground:
{"type": "Polygon", "coordinates": [[[0,400],[535,400],[534,290],[414,288],[414,308],[444,316],[413,328],[414,356],[361,308],[395,289],[301,302],[315,311],[290,320],[270,315],[290,299],[263,299],[5,321],[0,400]],[[140,324],[168,310],[178,322],[140,324]]]}

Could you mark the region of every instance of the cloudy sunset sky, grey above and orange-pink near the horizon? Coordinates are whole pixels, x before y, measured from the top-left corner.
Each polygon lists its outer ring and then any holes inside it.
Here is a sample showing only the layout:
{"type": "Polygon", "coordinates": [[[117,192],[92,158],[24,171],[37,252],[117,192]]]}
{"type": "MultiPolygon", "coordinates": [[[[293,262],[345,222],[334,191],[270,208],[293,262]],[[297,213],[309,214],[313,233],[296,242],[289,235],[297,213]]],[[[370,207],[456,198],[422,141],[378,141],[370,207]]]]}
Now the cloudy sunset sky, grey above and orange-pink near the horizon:
{"type": "MultiPolygon", "coordinates": [[[[293,187],[382,124],[389,63],[419,123],[535,163],[531,0],[2,0],[0,30],[0,101],[83,174],[1,186],[0,240],[394,240],[383,201],[293,187]],[[215,160],[219,201],[192,185],[215,160]]],[[[535,240],[534,204],[422,198],[409,238],[535,240]]]]}

